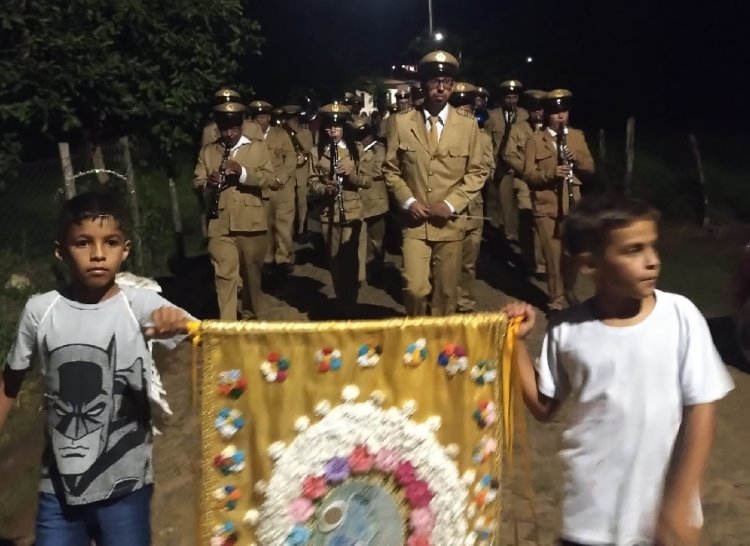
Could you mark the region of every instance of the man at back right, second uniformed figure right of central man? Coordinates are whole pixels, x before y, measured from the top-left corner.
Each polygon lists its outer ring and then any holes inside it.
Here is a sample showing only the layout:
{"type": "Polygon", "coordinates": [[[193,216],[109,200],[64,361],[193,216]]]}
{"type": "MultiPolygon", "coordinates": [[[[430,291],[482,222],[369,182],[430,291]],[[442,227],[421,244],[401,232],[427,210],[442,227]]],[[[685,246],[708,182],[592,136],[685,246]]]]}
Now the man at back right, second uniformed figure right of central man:
{"type": "Polygon", "coordinates": [[[528,113],[518,107],[518,94],[523,85],[518,80],[507,80],[500,84],[500,107],[490,110],[487,130],[492,135],[494,146],[495,186],[498,196],[498,227],[503,228],[505,237],[518,242],[518,208],[513,194],[513,169],[503,161],[503,152],[508,143],[510,129],[514,123],[524,121],[528,113]]]}

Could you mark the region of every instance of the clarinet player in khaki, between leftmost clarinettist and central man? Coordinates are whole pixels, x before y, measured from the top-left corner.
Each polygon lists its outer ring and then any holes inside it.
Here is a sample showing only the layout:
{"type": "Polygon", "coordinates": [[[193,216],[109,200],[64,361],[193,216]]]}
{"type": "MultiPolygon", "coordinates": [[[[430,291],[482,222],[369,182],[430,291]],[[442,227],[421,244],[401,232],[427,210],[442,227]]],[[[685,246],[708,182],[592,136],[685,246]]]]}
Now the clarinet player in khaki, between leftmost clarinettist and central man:
{"type": "Polygon", "coordinates": [[[360,170],[357,145],[351,136],[351,112],[337,102],[320,109],[317,161],[310,172],[310,191],[323,197],[320,221],[329,257],[338,315],[352,316],[359,283],[359,237],[364,220],[360,188],[370,178],[360,170]]]}

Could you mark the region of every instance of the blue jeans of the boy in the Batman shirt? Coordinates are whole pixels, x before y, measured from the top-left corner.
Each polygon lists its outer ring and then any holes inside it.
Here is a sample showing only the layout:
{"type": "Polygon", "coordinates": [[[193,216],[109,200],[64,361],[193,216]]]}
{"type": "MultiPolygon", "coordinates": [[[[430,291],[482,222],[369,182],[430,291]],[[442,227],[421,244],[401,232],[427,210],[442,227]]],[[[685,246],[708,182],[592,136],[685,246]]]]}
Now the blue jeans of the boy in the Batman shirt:
{"type": "Polygon", "coordinates": [[[35,546],[149,546],[151,494],[147,485],[123,497],[70,506],[39,493],[35,546]]]}

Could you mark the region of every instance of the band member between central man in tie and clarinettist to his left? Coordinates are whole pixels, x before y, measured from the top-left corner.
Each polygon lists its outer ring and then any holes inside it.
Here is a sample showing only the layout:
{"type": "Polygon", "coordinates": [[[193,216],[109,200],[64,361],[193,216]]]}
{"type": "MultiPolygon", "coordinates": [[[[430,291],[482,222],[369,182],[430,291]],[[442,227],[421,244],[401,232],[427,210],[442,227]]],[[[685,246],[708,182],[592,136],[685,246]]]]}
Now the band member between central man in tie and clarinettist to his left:
{"type": "Polygon", "coordinates": [[[370,180],[370,187],[359,190],[365,219],[359,246],[360,278],[364,278],[368,268],[373,276],[379,275],[385,263],[385,218],[388,212],[388,190],[383,178],[385,146],[375,139],[372,128],[361,120],[355,121],[352,129],[359,151],[360,173],[370,180]]]}

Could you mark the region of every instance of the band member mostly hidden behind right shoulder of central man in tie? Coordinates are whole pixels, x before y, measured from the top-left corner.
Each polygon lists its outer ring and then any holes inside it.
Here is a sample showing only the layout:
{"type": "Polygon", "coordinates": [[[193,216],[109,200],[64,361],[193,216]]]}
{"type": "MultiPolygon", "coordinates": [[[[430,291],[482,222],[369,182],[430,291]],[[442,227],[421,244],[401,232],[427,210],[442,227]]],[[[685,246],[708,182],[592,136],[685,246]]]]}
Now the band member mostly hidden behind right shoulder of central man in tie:
{"type": "MultiPolygon", "coordinates": [[[[479,96],[479,88],[468,82],[458,82],[453,86],[450,104],[456,110],[475,119],[474,105],[479,96]]],[[[480,142],[483,150],[483,158],[489,174],[486,180],[492,178],[495,171],[495,158],[492,155],[492,137],[483,129],[479,131],[480,142]]],[[[466,232],[462,244],[461,253],[461,284],[458,287],[458,312],[471,313],[476,307],[476,298],[474,297],[474,282],[477,278],[477,258],[479,258],[479,248],[482,244],[482,230],[484,228],[484,199],[482,192],[477,193],[476,197],[469,203],[466,209],[466,232]]]]}

